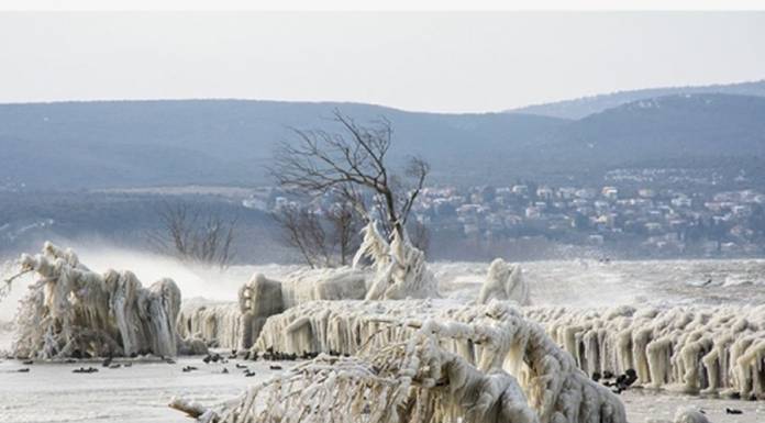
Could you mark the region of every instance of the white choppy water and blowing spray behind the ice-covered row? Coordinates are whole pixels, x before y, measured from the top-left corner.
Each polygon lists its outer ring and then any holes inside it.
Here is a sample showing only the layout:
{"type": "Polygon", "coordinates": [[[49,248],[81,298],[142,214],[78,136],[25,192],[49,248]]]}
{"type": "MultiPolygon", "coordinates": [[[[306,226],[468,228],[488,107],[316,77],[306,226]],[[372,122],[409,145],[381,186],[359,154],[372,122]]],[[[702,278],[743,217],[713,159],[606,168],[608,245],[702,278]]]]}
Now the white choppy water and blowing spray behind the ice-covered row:
{"type": "MultiPolygon", "coordinates": [[[[68,245],[62,245],[66,247],[68,245]]],[[[185,301],[235,301],[242,283],[263,272],[281,280],[301,265],[244,265],[228,269],[182,263],[149,251],[133,251],[104,243],[70,244],[91,270],[130,270],[144,286],[162,278],[175,280],[185,301]]],[[[36,253],[36,252],[27,252],[36,253]]],[[[12,259],[11,259],[12,260],[12,259]]],[[[15,271],[5,261],[2,278],[15,271]]],[[[462,301],[476,298],[488,263],[437,261],[430,268],[444,297],[462,301]]],[[[634,260],[599,263],[592,259],[522,261],[523,276],[537,305],[613,307],[621,304],[762,303],[765,260],[634,260]]],[[[18,279],[0,301],[0,322],[13,319],[16,304],[33,281],[18,279]]]]}

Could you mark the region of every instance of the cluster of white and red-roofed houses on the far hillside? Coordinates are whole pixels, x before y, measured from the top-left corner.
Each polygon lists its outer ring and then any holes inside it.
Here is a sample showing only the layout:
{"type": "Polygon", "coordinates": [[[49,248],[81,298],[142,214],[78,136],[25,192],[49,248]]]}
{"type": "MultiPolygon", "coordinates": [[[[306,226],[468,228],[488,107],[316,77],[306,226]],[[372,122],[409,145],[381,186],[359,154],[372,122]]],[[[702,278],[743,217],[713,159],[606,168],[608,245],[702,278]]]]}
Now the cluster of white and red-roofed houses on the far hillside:
{"type": "MultiPolygon", "coordinates": [[[[599,187],[532,181],[506,187],[429,187],[414,211],[434,238],[462,240],[475,246],[536,240],[536,244],[600,251],[601,259],[610,259],[610,255],[733,257],[765,252],[765,193],[640,188],[634,177],[627,179],[630,183],[599,187]]],[[[278,191],[271,191],[270,198],[270,208],[289,201],[278,191]]],[[[254,200],[248,201],[253,205],[254,200]]]]}

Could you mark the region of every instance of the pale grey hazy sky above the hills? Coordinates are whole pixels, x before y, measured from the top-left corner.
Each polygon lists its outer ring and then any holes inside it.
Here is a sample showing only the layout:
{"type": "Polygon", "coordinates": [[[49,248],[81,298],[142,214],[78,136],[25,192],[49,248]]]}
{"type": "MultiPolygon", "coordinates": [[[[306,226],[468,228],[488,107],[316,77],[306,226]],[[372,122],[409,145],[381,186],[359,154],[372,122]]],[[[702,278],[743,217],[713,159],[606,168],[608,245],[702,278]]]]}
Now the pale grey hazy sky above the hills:
{"type": "Polygon", "coordinates": [[[497,111],[765,78],[765,12],[0,13],[0,102],[246,98],[497,111]]]}

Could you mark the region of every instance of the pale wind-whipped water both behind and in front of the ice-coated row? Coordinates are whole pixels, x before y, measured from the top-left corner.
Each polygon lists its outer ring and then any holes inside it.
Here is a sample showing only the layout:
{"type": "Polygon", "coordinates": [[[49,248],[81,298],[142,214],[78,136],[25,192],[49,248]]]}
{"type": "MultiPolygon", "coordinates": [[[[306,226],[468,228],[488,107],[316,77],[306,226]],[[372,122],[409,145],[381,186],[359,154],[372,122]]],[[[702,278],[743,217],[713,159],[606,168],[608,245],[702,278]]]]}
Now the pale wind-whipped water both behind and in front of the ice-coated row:
{"type": "MultiPolygon", "coordinates": [[[[82,252],[80,258],[95,270],[126,268],[145,282],[160,276],[174,278],[185,299],[208,298],[234,301],[236,290],[254,271],[279,279],[295,267],[239,266],[220,274],[189,269],[171,260],[148,255],[82,252]]],[[[475,299],[487,263],[439,263],[431,266],[441,292],[458,300],[475,299]]],[[[522,264],[534,304],[618,305],[669,304],[762,304],[765,302],[765,260],[662,260],[662,261],[533,261],[522,264]]],[[[23,293],[14,287],[11,298],[0,302],[0,321],[15,311],[23,293]]],[[[0,350],[11,336],[0,324],[0,350]]],[[[102,368],[99,361],[78,364],[33,364],[3,359],[0,363],[0,422],[188,422],[167,408],[174,396],[204,404],[230,399],[242,389],[275,370],[263,361],[246,363],[256,376],[245,378],[231,361],[229,374],[221,365],[204,365],[200,357],[182,358],[175,365],[135,363],[130,368],[102,368]],[[198,371],[184,372],[192,365],[198,371]],[[80,366],[93,366],[96,374],[73,374],[80,366]],[[16,372],[29,367],[29,372],[16,372]]],[[[287,367],[289,364],[284,365],[287,367]]],[[[670,420],[679,405],[697,405],[713,423],[765,421],[765,402],[702,399],[632,389],[622,393],[632,423],[670,420]],[[725,408],[743,414],[725,414],[725,408]]]]}

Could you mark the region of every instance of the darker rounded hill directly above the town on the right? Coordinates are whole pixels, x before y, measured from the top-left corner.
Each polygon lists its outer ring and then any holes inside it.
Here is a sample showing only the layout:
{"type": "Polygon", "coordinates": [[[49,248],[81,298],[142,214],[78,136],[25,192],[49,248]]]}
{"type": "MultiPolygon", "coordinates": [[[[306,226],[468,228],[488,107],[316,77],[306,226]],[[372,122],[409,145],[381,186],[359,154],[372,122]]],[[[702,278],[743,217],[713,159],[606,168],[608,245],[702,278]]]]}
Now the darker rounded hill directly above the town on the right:
{"type": "Polygon", "coordinates": [[[614,164],[765,158],[765,98],[678,94],[639,100],[565,125],[557,143],[568,157],[614,164]]]}

